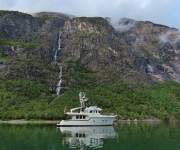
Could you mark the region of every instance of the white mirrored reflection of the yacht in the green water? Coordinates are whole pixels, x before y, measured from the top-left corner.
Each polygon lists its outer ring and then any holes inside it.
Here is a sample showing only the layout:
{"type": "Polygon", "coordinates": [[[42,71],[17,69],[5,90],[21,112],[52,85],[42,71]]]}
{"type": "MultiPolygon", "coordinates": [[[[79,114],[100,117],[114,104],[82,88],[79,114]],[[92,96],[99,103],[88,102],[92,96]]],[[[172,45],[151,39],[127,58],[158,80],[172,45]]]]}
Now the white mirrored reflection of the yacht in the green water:
{"type": "Polygon", "coordinates": [[[113,126],[92,126],[92,127],[59,127],[64,134],[62,144],[68,144],[69,148],[103,147],[103,139],[118,138],[113,126]]]}

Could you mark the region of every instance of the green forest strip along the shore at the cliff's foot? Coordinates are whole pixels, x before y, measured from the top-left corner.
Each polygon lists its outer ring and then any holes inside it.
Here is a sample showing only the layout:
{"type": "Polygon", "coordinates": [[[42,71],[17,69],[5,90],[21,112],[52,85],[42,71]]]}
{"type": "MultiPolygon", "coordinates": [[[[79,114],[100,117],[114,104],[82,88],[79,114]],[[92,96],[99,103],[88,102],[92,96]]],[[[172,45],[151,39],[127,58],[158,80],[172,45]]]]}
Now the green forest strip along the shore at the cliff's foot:
{"type": "MultiPolygon", "coordinates": [[[[76,80],[81,75],[77,74],[76,80]]],[[[22,78],[0,79],[0,119],[60,120],[66,118],[63,114],[65,107],[67,110],[79,107],[80,91],[86,93],[91,104],[102,108],[102,113],[117,114],[117,119],[180,119],[179,83],[166,82],[144,87],[130,87],[126,82],[109,86],[92,82],[92,79],[79,80],[78,85],[72,86],[57,97],[49,92],[46,85],[36,81],[22,78]]]]}

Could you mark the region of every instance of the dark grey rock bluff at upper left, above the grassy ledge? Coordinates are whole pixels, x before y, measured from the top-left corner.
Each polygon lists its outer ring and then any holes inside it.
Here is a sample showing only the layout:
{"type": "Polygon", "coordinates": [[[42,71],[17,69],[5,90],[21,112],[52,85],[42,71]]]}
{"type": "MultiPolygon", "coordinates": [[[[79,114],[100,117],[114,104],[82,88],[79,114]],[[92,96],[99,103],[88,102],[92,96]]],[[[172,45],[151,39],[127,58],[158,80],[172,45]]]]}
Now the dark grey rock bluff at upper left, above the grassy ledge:
{"type": "Polygon", "coordinates": [[[31,15],[14,12],[0,17],[0,34],[23,42],[33,40],[43,21],[31,15]],[[22,38],[23,36],[23,38],[22,38]]]}

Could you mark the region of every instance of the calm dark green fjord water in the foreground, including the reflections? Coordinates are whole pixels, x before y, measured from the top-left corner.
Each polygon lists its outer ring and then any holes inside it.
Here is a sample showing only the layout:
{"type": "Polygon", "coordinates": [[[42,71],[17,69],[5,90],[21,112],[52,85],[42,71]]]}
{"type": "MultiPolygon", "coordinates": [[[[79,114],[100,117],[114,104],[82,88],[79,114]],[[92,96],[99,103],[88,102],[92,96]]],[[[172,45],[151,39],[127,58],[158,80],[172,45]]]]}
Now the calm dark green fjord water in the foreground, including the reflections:
{"type": "Polygon", "coordinates": [[[177,150],[180,122],[119,123],[105,127],[0,124],[0,150],[177,150]]]}

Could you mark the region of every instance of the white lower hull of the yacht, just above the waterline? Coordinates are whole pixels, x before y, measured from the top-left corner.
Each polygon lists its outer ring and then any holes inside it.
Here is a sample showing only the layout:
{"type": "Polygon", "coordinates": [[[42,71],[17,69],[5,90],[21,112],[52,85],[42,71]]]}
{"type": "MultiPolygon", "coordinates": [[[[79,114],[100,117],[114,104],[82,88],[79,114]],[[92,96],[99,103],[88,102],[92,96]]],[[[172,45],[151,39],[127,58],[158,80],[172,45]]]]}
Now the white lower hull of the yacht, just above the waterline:
{"type": "Polygon", "coordinates": [[[89,120],[62,120],[57,126],[108,126],[113,125],[115,116],[92,117],[89,120]]]}

